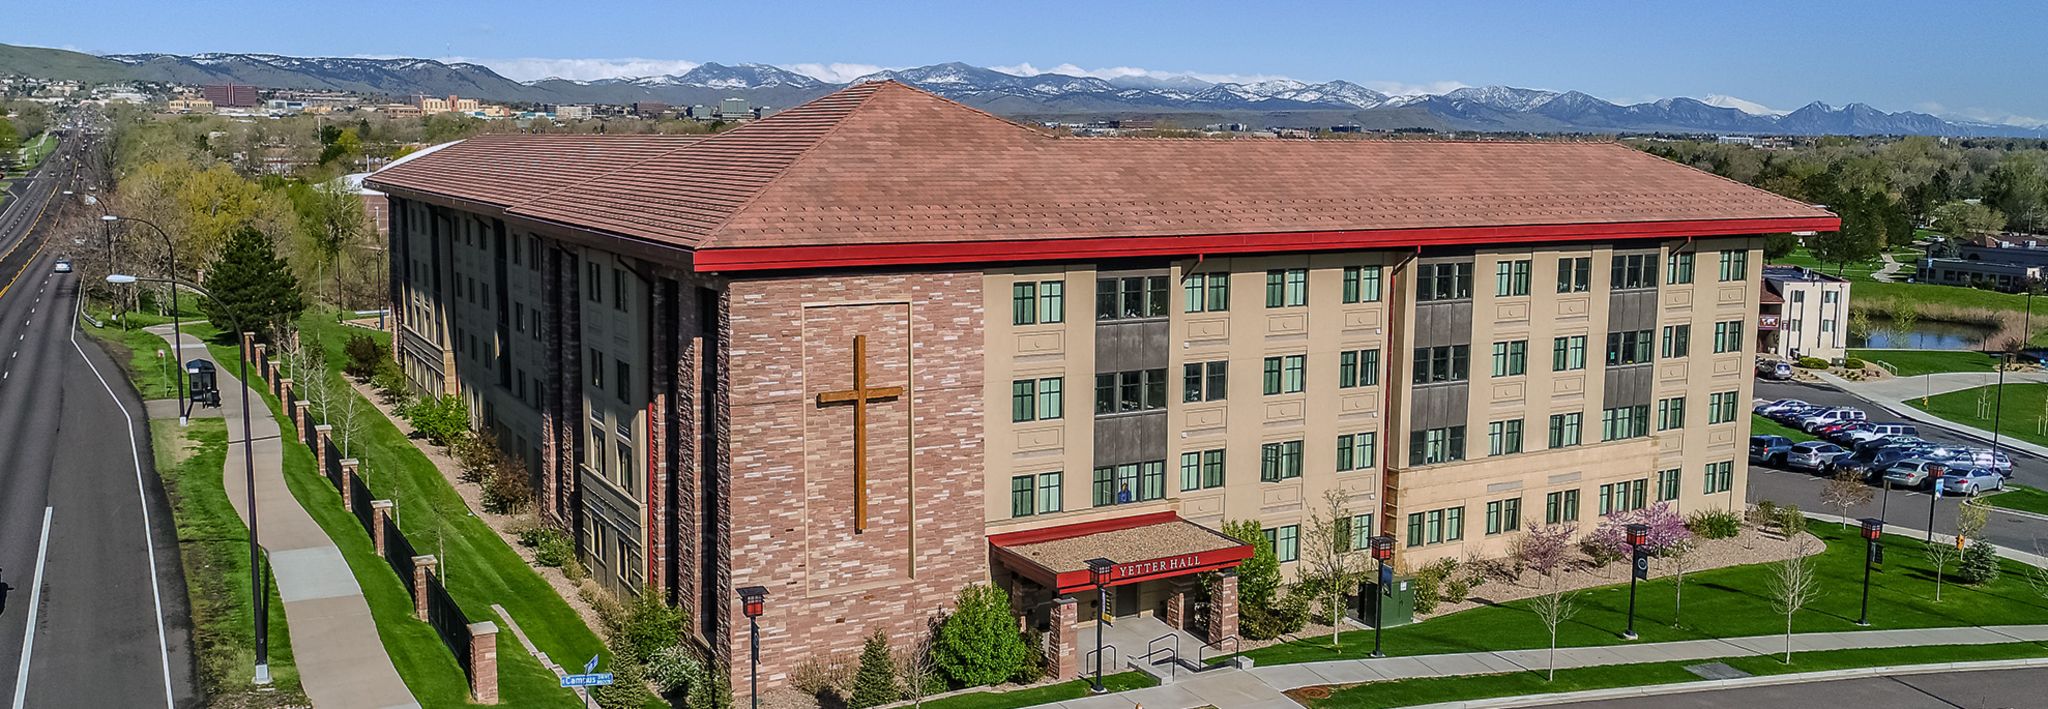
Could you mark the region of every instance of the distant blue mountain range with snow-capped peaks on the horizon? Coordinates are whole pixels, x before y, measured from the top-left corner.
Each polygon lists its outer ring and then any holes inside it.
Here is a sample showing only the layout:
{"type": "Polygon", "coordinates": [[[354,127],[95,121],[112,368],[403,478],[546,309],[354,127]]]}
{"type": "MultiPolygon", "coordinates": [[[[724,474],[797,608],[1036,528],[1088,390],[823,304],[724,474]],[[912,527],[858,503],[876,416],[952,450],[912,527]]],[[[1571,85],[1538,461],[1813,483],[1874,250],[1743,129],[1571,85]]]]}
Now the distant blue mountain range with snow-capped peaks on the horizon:
{"type": "MultiPolygon", "coordinates": [[[[348,90],[385,96],[475,96],[502,102],[657,100],[711,105],[748,98],[770,109],[823,96],[846,84],[766,64],[700,64],[684,74],[516,82],[463,61],[289,57],[274,53],[123,53],[0,45],[0,76],[90,82],[252,84],[262,88],[348,90]]],[[[1927,113],[1886,113],[1862,102],[1810,102],[1772,113],[1731,96],[1616,105],[1577,90],[1475,86],[1444,94],[1391,96],[1333,82],[1204,82],[1192,76],[1092,78],[1016,76],[961,61],[885,70],[856,78],[899,80],[965,105],[1034,121],[1145,117],[1178,125],[1214,121],[1260,127],[1360,125],[1366,129],[1520,133],[1772,133],[1772,135],[2007,135],[2048,137],[2048,127],[1952,121],[1927,113]]]]}

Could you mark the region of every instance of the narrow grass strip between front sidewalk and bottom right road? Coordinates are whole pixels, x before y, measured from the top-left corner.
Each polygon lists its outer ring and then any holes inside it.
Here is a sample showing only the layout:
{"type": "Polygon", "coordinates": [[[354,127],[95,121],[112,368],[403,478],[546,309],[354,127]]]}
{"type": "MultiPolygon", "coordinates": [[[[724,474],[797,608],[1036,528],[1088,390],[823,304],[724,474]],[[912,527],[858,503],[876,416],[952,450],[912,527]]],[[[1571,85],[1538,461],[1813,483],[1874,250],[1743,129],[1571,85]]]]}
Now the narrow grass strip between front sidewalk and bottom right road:
{"type": "MultiPolygon", "coordinates": [[[[1692,664],[1724,662],[1749,674],[1792,674],[1823,672],[1870,666],[1972,662],[1972,660],[2015,660],[2044,658],[2044,643],[1999,643],[1999,645],[1921,645],[1921,648],[1880,648],[1880,650],[1829,650],[1796,652],[1792,664],[1782,658],[1741,656],[1722,660],[1692,662],[1642,662],[1599,668],[1559,670],[1556,680],[1544,680],[1542,672],[1509,672],[1483,676],[1442,676],[1393,682],[1366,682],[1337,689],[1329,699],[1300,699],[1315,709],[1378,709],[1411,707],[1448,701],[1473,701],[1495,697],[1526,697],[1577,693],[1591,689],[1649,686],[1702,682],[1704,678],[1686,670],[1692,664]]],[[[1298,697],[1300,693],[1296,693],[1298,697]]]]}

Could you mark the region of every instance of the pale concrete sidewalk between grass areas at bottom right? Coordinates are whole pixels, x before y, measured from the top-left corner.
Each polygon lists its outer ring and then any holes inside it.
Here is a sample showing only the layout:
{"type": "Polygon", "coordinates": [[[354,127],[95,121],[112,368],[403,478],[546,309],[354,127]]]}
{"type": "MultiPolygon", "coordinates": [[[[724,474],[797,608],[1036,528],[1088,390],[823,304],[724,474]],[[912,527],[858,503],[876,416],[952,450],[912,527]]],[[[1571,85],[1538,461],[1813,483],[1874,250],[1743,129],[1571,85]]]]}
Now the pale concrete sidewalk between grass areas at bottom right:
{"type": "MultiPolygon", "coordinates": [[[[1784,654],[1784,635],[1753,635],[1729,639],[1686,639],[1671,643],[1632,643],[1608,648],[1559,648],[1556,668],[1591,668],[1640,662],[1706,662],[1716,658],[1784,654]]],[[[1919,648],[1919,645],[1997,645],[2048,641],[2048,625],[1997,627],[1927,627],[1894,631],[1796,633],[1792,652],[1919,648]]],[[[1444,656],[1407,656],[1378,660],[1329,660],[1276,664],[1251,670],[1208,670],[1176,684],[1139,689],[1118,695],[1083,697],[1044,707],[1061,709],[1194,709],[1194,707],[1296,707],[1282,695],[1315,684],[1358,684],[1411,680],[1432,676],[1470,676],[1501,672],[1542,672],[1548,650],[1466,652],[1444,656]]]]}

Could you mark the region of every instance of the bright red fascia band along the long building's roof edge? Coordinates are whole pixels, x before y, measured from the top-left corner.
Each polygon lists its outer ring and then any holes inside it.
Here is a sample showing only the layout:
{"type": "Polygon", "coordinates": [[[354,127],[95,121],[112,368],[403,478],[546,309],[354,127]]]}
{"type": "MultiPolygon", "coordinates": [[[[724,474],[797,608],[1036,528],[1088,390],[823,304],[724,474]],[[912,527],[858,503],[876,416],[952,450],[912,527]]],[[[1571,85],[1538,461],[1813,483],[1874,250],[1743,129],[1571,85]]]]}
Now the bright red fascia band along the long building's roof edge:
{"type": "Polygon", "coordinates": [[[1006,260],[1085,260],[1194,254],[1282,254],[1343,248],[1407,248],[1456,244],[1522,244],[1556,240],[1628,240],[1731,234],[1835,232],[1841,217],[1690,219],[1622,223],[1542,223],[1485,227],[1419,227],[1372,232],[1282,232],[1210,236],[1128,236],[1073,240],[848,244],[700,248],[696,270],[795,270],[846,266],[909,266],[1006,260]]]}

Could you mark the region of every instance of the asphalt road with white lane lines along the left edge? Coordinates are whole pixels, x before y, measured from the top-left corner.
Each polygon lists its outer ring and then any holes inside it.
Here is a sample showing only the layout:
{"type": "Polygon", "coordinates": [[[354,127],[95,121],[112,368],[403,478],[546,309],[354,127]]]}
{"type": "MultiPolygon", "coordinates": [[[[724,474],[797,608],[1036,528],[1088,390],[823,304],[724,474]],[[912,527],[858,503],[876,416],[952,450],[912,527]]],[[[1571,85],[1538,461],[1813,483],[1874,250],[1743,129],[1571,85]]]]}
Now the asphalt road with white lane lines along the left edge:
{"type": "Polygon", "coordinates": [[[190,707],[190,613],[147,420],[74,332],[76,277],[41,248],[70,150],[0,215],[0,707],[190,707]]]}

